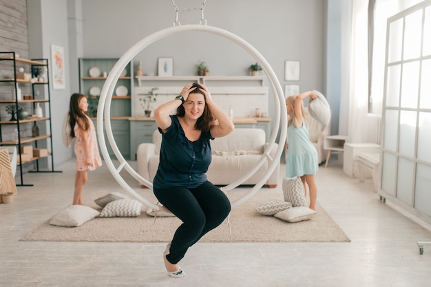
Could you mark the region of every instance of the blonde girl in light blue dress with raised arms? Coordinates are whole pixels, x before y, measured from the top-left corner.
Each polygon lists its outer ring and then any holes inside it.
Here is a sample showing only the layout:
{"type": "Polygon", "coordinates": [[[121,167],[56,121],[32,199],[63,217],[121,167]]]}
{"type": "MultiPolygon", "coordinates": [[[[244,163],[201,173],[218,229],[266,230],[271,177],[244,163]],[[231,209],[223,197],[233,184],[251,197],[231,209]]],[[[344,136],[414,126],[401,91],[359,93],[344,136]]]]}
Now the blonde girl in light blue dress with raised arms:
{"type": "Polygon", "coordinates": [[[316,209],[317,186],[315,182],[315,174],[319,167],[317,160],[317,150],[308,139],[308,127],[304,120],[304,106],[302,100],[310,97],[312,100],[316,98],[313,92],[304,92],[297,96],[289,96],[286,98],[286,109],[288,114],[287,134],[288,156],[286,161],[286,178],[299,176],[306,185],[310,193],[310,209],[316,209]]]}

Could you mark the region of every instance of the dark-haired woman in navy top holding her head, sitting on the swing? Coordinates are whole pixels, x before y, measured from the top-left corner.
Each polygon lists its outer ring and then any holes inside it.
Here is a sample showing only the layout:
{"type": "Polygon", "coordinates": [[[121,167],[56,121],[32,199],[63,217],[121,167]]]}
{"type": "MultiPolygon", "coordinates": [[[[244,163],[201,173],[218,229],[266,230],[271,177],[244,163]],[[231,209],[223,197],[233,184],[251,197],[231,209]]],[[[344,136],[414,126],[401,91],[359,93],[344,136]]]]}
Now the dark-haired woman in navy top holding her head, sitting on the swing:
{"type": "Polygon", "coordinates": [[[207,87],[198,83],[185,85],[179,96],[156,109],[154,118],[162,134],[154,194],[182,221],[163,259],[169,276],[184,277],[178,262],[187,249],[231,211],[227,196],[205,173],[211,163],[209,140],[227,136],[235,127],[207,87]],[[171,115],[175,109],[176,115],[171,115]]]}

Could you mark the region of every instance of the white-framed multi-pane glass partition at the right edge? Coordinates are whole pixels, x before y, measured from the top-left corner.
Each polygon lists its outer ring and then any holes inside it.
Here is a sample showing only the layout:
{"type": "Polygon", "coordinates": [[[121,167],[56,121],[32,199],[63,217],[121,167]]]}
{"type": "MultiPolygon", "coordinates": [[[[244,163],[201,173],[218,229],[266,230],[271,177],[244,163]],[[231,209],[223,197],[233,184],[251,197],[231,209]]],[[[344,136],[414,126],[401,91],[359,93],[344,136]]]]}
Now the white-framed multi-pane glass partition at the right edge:
{"type": "Polygon", "coordinates": [[[390,17],[386,35],[379,193],[431,223],[431,0],[390,17]]]}

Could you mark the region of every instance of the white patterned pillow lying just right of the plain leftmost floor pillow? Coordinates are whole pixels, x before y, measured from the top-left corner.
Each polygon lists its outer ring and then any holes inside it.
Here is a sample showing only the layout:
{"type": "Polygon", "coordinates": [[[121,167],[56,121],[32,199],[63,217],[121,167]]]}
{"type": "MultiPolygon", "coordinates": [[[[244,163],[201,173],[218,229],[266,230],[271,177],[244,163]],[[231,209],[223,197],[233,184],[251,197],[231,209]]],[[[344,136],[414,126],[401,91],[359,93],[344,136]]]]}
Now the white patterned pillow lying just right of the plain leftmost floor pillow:
{"type": "Polygon", "coordinates": [[[99,217],[136,217],[140,215],[142,206],[138,200],[114,200],[103,207],[99,217]]]}

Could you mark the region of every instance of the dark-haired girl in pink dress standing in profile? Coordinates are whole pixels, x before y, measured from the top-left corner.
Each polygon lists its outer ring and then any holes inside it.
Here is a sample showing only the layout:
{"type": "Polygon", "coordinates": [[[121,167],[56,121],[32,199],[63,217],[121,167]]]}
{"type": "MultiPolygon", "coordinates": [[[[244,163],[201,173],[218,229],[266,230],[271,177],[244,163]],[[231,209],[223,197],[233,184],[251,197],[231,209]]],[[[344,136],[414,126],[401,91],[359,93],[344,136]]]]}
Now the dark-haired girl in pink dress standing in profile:
{"type": "Polygon", "coordinates": [[[98,153],[96,129],[87,116],[87,96],[72,94],[70,97],[69,125],[70,136],[76,137],[76,176],[73,204],[83,205],[83,188],[87,182],[87,171],[101,167],[102,160],[98,153]]]}

